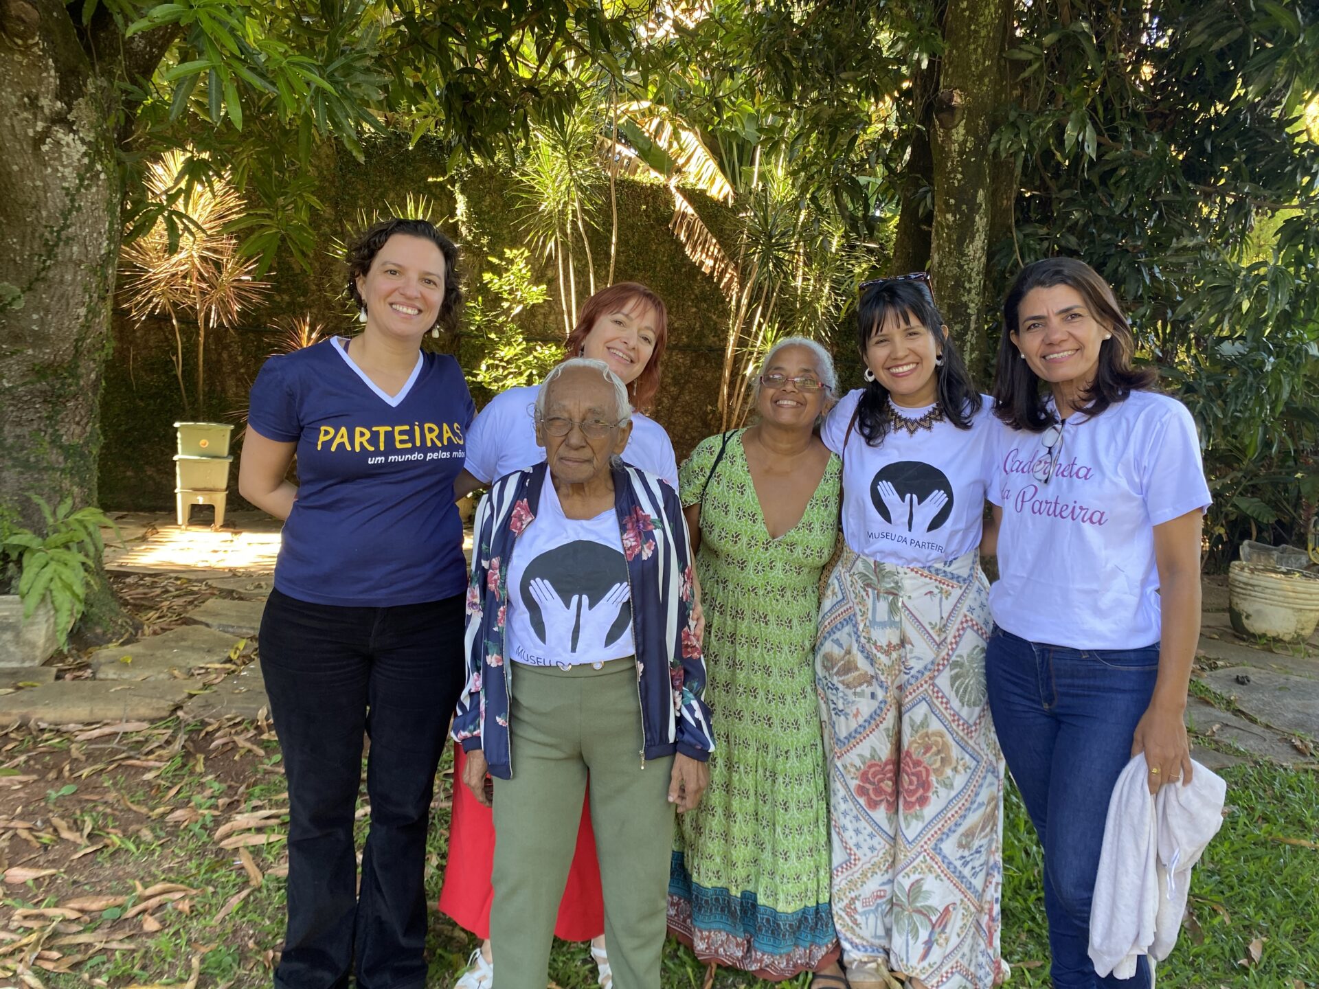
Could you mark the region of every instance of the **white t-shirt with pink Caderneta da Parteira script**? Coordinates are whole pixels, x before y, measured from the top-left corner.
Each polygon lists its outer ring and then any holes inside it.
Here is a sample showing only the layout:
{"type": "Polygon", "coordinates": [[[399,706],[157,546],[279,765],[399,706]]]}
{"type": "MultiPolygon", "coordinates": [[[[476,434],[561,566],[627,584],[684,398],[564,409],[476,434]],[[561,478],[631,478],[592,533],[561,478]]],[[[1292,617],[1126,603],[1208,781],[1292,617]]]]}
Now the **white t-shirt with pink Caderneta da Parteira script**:
{"type": "Polygon", "coordinates": [[[1004,430],[989,500],[1002,506],[995,621],[1072,649],[1159,641],[1154,526],[1210,505],[1195,421],[1175,398],[1132,392],[1063,425],[1049,483],[1038,433],[1004,430]]]}

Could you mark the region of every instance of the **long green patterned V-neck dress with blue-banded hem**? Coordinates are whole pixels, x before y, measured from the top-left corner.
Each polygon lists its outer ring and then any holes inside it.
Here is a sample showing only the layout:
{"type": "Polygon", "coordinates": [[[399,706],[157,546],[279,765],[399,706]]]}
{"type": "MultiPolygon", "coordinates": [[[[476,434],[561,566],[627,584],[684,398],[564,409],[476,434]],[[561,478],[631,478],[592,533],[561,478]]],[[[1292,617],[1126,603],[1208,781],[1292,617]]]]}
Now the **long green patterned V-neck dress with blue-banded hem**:
{"type": "MultiPolygon", "coordinates": [[[[715,752],[710,789],[675,829],[669,928],[706,961],[782,980],[838,956],[814,663],[842,462],[830,456],[801,522],[772,539],[741,433],[728,436],[700,512],[715,752]]],[[[721,440],[703,440],[682,465],[683,506],[700,501],[721,440]]]]}

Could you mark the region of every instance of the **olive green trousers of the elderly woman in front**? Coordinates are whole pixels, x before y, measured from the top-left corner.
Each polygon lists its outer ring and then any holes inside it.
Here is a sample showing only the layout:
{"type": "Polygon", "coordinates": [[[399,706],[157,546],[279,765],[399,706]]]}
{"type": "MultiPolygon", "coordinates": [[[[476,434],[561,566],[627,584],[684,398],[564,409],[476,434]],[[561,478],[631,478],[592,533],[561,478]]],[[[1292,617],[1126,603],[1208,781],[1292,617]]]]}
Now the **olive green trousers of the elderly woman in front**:
{"type": "Polygon", "coordinates": [[[633,659],[513,663],[512,779],[495,781],[495,989],[545,989],[587,781],[615,989],[660,989],[673,757],[641,758],[633,659]]]}

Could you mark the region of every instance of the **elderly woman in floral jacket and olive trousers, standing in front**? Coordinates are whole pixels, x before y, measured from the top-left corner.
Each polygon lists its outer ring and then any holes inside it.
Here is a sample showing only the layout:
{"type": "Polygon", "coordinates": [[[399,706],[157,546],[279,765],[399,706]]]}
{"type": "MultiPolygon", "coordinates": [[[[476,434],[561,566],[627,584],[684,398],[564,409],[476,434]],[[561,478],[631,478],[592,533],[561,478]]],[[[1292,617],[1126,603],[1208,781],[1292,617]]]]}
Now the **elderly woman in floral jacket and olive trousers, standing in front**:
{"type": "Polygon", "coordinates": [[[687,526],[673,488],[619,459],[630,413],[605,363],[559,364],[536,398],[545,463],[476,513],[454,738],[463,782],[493,802],[504,989],[547,980],[588,779],[615,984],[660,988],[673,812],[708,781],[687,526]]]}

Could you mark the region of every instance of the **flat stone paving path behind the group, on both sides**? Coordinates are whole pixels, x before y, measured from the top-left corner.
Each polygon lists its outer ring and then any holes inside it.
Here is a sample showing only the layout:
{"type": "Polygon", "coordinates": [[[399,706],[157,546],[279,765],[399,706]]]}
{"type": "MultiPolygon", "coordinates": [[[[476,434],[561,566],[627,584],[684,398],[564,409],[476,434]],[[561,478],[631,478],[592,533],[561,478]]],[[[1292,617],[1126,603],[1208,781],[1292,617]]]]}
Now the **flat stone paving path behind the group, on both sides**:
{"type": "MultiPolygon", "coordinates": [[[[86,724],[268,712],[261,667],[253,661],[270,592],[278,524],[233,513],[233,527],[179,529],[162,516],[121,513],[124,545],[107,567],[203,580],[220,592],[187,613],[195,624],[90,657],[94,679],[54,680],[51,667],[0,665],[0,727],[86,724]]],[[[1269,651],[1228,622],[1227,580],[1204,580],[1196,687],[1186,721],[1196,760],[1219,769],[1248,760],[1302,764],[1319,757],[1319,633],[1304,646],[1269,651]],[[1207,690],[1206,690],[1207,688],[1207,690]]],[[[3,662],[3,658],[0,658],[3,662]]]]}

